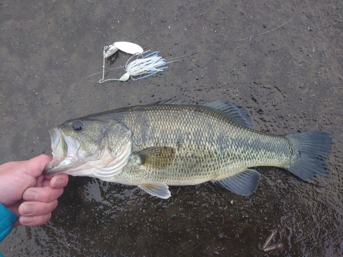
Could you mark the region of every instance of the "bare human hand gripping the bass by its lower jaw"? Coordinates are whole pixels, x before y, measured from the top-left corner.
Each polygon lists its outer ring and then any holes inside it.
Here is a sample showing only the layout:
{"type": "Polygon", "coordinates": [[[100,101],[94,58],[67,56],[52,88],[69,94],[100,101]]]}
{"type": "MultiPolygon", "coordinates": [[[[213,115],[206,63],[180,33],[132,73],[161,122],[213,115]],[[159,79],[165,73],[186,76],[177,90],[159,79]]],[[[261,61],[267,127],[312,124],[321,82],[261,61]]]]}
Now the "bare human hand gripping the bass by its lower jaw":
{"type": "Polygon", "coordinates": [[[19,217],[18,225],[41,225],[51,218],[57,198],[67,186],[68,175],[54,177],[43,174],[52,160],[41,155],[31,160],[7,162],[0,165],[0,203],[19,217]]]}

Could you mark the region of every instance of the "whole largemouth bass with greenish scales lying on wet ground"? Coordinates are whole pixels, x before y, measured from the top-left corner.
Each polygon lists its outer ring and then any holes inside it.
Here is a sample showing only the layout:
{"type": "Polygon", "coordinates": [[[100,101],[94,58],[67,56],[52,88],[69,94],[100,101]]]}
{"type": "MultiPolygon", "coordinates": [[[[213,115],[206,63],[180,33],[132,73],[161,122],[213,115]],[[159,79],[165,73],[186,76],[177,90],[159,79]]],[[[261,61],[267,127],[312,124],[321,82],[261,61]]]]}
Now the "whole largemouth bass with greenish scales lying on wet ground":
{"type": "Polygon", "coordinates": [[[281,167],[301,180],[329,175],[329,132],[273,135],[254,130],[248,112],[217,99],[176,99],[65,121],[49,130],[53,160],[45,173],[139,186],[167,199],[169,186],[215,182],[255,192],[255,167],[281,167]]]}

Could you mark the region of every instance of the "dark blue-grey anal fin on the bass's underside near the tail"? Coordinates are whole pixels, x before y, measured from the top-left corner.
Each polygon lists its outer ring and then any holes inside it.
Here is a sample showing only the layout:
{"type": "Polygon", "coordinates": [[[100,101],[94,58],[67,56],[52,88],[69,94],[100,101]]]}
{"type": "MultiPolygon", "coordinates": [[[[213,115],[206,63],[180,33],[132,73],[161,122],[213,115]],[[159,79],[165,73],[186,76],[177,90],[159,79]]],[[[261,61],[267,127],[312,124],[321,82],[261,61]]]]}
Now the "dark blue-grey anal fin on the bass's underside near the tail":
{"type": "Polygon", "coordinates": [[[225,180],[215,182],[237,195],[250,195],[259,186],[260,178],[261,174],[255,169],[246,169],[225,180]]]}

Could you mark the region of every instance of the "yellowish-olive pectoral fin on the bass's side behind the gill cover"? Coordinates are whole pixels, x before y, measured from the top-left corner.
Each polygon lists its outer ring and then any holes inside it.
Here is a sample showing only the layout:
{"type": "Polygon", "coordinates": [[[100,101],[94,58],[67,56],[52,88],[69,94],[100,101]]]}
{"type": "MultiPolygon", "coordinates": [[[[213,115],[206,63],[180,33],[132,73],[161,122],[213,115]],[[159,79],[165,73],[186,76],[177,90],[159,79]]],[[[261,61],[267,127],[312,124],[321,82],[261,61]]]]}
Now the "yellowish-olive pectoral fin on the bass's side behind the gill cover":
{"type": "Polygon", "coordinates": [[[173,162],[175,149],[173,147],[148,147],[134,152],[134,156],[138,157],[137,164],[148,169],[161,170],[173,162]]]}

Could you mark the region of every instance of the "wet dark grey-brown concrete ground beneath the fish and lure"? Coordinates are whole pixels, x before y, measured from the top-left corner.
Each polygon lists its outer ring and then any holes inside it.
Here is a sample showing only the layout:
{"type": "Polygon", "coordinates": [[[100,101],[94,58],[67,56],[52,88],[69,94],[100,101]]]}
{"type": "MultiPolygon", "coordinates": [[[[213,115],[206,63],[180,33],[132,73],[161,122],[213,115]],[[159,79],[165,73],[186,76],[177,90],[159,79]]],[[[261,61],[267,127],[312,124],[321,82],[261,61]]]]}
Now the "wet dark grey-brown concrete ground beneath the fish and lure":
{"type": "MultiPolygon", "coordinates": [[[[342,8],[342,1],[322,0],[2,1],[1,163],[50,154],[47,129],[67,119],[171,98],[233,101],[255,128],[272,134],[325,130],[333,151],[326,186],[262,167],[249,197],[206,183],[172,186],[165,200],[71,178],[51,221],[15,229],[0,252],[342,256],[342,8]],[[166,59],[196,54],[139,81],[81,82],[101,71],[104,45],[120,40],[166,59]],[[270,230],[278,230],[272,243],[283,248],[265,254],[260,248],[270,230]]],[[[106,65],[124,65],[128,57],[117,53],[106,65]]]]}

